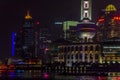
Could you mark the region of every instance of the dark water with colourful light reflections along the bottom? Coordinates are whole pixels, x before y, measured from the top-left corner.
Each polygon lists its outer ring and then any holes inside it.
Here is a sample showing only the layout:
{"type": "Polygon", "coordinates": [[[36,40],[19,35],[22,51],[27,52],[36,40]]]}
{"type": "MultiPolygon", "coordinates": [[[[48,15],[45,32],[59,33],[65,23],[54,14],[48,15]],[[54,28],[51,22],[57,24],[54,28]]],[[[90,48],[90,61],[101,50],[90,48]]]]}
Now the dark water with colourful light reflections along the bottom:
{"type": "Polygon", "coordinates": [[[64,76],[40,70],[0,70],[0,80],[120,80],[119,76],[64,76]]]}

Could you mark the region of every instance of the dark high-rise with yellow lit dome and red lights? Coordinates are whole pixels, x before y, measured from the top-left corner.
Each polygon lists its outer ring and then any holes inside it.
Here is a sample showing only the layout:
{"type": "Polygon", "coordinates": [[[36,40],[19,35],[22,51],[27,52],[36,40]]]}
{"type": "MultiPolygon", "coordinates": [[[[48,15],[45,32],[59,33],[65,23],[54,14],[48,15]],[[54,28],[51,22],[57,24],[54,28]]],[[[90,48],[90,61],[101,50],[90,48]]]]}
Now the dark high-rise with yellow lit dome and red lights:
{"type": "Polygon", "coordinates": [[[117,35],[120,33],[118,32],[120,29],[117,29],[119,27],[115,27],[116,21],[114,20],[114,16],[116,12],[117,9],[114,5],[109,4],[106,6],[105,13],[99,18],[97,23],[97,41],[104,41],[112,37],[117,37],[117,35]]]}

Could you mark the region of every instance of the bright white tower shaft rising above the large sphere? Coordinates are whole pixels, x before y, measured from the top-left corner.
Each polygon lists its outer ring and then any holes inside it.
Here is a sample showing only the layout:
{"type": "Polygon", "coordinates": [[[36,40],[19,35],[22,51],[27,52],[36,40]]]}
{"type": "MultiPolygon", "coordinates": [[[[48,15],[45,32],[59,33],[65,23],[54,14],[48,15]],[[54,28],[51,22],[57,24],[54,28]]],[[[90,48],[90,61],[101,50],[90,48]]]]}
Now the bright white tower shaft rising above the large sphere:
{"type": "Polygon", "coordinates": [[[81,20],[92,20],[92,0],[81,0],[81,20]]]}

